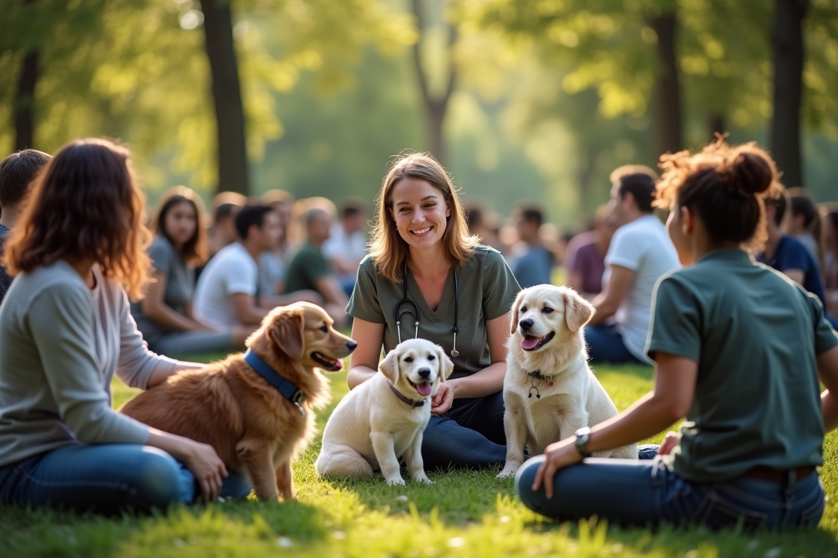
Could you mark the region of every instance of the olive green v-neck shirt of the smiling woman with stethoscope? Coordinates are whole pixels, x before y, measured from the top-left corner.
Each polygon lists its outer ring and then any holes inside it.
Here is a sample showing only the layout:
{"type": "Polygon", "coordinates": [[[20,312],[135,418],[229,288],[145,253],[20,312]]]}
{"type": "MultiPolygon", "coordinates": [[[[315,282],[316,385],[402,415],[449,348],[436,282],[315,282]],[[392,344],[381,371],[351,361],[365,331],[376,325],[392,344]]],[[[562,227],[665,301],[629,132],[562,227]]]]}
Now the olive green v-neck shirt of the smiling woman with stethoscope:
{"type": "MultiPolygon", "coordinates": [[[[492,362],[486,339],[486,321],[510,311],[520,287],[506,265],[504,257],[494,248],[478,246],[474,255],[457,270],[459,287],[457,350],[451,377],[470,376],[492,362]]],[[[385,324],[384,350],[398,345],[396,335],[396,304],[404,296],[403,285],[375,273],[375,265],[367,256],[358,268],[358,280],[346,311],[360,320],[385,324]]],[[[442,346],[447,355],[453,349],[454,277],[448,274],[442,300],[434,312],[422,298],[422,292],[411,274],[407,277],[407,296],[419,307],[419,337],[442,346]]],[[[409,304],[401,310],[411,309],[409,304]]],[[[401,340],[416,335],[414,319],[405,312],[401,318],[401,340]]]]}

